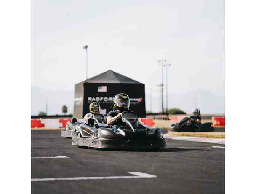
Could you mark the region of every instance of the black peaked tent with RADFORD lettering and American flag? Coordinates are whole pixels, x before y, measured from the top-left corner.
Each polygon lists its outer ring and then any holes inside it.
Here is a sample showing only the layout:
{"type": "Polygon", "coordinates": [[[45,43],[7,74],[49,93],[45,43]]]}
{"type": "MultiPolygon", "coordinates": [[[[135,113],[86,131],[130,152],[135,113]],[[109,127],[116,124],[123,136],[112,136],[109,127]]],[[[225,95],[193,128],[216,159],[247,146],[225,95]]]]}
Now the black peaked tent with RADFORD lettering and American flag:
{"type": "Polygon", "coordinates": [[[130,98],[130,110],[138,117],[146,117],[145,84],[108,70],[75,84],[74,117],[80,119],[88,113],[91,101],[101,105],[101,113],[113,110],[114,97],[125,93],[130,98]]]}

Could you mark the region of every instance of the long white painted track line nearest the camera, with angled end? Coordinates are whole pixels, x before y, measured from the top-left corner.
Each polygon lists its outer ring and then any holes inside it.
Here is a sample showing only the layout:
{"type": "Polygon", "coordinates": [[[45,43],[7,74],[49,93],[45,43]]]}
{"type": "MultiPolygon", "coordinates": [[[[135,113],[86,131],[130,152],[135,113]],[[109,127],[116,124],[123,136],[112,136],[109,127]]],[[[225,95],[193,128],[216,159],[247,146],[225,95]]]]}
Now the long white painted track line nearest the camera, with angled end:
{"type": "Polygon", "coordinates": [[[128,172],[136,176],[112,176],[112,177],[67,177],[67,178],[31,178],[33,181],[66,181],[66,180],[94,180],[94,179],[119,179],[119,178],[156,178],[155,175],[150,175],[142,172],[128,172]]]}

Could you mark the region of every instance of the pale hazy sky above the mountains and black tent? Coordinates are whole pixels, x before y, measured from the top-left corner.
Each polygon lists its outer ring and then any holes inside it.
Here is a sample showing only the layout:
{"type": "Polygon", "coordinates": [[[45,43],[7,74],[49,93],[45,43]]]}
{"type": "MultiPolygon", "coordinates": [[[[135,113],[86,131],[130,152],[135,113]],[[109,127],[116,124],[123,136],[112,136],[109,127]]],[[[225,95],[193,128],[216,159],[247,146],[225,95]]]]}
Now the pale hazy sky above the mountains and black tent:
{"type": "Polygon", "coordinates": [[[169,91],[224,95],[223,0],[32,0],[32,85],[74,90],[84,45],[89,78],[111,69],[159,95],[168,59],[169,91]]]}

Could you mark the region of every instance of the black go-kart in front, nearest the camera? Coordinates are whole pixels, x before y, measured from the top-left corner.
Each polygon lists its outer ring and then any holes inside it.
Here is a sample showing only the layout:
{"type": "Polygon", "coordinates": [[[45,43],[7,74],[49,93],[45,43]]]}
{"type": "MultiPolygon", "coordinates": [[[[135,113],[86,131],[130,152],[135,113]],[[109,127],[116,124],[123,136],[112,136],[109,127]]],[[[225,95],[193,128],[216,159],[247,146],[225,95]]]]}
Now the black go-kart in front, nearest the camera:
{"type": "Polygon", "coordinates": [[[122,113],[125,126],[114,132],[112,126],[88,120],[88,125],[79,124],[77,136],[72,138],[72,145],[91,148],[140,148],[159,149],[166,146],[165,139],[159,128],[149,128],[138,122],[133,111],[122,113]]]}

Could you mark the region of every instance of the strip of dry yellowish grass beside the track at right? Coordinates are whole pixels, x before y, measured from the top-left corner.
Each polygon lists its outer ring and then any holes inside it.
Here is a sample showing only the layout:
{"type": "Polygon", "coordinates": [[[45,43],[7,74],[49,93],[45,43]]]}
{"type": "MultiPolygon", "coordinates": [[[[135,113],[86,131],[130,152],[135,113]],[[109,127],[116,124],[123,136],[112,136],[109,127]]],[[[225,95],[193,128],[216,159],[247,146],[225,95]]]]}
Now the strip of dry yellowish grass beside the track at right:
{"type": "Polygon", "coordinates": [[[225,139],[225,132],[169,132],[168,135],[225,139]]]}

